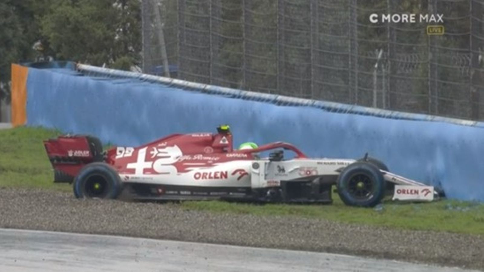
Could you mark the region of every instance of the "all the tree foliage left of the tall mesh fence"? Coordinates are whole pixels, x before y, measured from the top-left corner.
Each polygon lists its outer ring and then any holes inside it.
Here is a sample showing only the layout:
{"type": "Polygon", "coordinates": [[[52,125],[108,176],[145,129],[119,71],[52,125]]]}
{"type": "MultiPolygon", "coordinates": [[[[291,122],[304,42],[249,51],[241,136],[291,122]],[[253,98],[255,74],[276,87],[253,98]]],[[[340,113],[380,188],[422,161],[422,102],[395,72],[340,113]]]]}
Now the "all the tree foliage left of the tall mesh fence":
{"type": "Polygon", "coordinates": [[[129,69],[139,64],[140,0],[2,0],[0,2],[0,99],[8,94],[10,64],[42,54],[129,69]]]}

